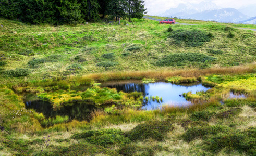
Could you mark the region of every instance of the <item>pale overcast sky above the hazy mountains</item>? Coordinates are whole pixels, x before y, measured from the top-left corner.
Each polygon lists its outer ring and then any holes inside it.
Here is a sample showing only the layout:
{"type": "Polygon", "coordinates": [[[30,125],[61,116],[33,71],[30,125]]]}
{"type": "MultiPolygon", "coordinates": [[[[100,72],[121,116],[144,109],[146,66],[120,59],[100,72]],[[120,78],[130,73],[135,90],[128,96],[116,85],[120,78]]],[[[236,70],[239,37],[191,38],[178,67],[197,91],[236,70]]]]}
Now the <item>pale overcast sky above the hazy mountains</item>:
{"type": "Polygon", "coordinates": [[[157,15],[170,8],[176,8],[180,3],[200,3],[211,1],[222,8],[239,9],[241,6],[255,4],[255,0],[145,0],[145,8],[148,8],[148,15],[157,15]]]}

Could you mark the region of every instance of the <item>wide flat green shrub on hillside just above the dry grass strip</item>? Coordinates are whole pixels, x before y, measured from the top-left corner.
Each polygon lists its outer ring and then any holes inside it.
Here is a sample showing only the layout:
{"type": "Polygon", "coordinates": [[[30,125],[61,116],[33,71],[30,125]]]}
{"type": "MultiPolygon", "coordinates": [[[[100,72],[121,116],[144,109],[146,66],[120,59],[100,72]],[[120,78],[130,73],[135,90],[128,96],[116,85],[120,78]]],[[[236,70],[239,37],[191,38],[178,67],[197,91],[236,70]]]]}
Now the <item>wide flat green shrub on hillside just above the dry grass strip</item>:
{"type": "Polygon", "coordinates": [[[184,66],[188,63],[212,62],[216,58],[201,53],[174,53],[157,60],[157,66],[184,66]]]}

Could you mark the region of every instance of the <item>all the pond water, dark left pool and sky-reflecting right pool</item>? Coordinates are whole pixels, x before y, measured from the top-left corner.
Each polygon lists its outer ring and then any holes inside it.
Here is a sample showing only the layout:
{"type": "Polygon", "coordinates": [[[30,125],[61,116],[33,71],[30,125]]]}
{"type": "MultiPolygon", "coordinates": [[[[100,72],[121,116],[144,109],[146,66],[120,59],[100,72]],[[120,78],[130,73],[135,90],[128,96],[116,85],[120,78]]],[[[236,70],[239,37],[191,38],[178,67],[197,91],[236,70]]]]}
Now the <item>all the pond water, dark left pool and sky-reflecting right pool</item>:
{"type": "MultiPolygon", "coordinates": [[[[177,105],[177,106],[187,106],[191,102],[187,101],[182,93],[187,93],[189,91],[192,94],[197,91],[206,91],[210,87],[203,86],[200,82],[187,83],[187,84],[172,84],[166,82],[156,82],[144,84],[141,80],[115,80],[107,81],[100,85],[101,87],[116,88],[118,91],[123,92],[142,92],[144,101],[141,109],[152,110],[159,108],[163,103],[167,105],[177,105]],[[162,101],[157,102],[156,100],[150,100],[150,97],[159,96],[162,97],[162,101]],[[145,100],[148,97],[148,101],[145,100]]],[[[86,90],[88,86],[80,86],[79,90],[86,90]]],[[[78,89],[78,88],[76,88],[78,89]]],[[[75,90],[75,89],[74,89],[75,90]]],[[[35,94],[25,95],[25,106],[27,109],[35,109],[36,112],[42,112],[46,118],[59,116],[69,116],[69,119],[77,120],[89,120],[89,113],[94,109],[99,109],[102,107],[96,107],[92,103],[88,102],[73,102],[66,103],[63,107],[59,109],[53,109],[50,102],[39,99],[35,94]]]]}

